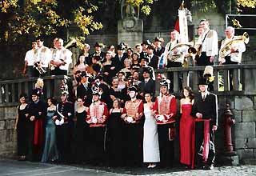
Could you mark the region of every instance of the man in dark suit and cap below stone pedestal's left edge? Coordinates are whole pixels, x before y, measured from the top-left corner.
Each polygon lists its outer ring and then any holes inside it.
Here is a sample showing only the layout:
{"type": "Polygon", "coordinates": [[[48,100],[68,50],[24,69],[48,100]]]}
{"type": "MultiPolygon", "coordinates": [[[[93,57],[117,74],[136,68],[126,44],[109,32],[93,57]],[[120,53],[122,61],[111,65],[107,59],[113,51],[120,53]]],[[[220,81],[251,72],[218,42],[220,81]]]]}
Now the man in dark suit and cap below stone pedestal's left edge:
{"type": "Polygon", "coordinates": [[[113,65],[115,66],[115,74],[125,67],[124,60],[128,58],[128,55],[125,53],[124,46],[118,45],[117,50],[118,54],[115,54],[114,58],[112,58],[113,65]]]}

